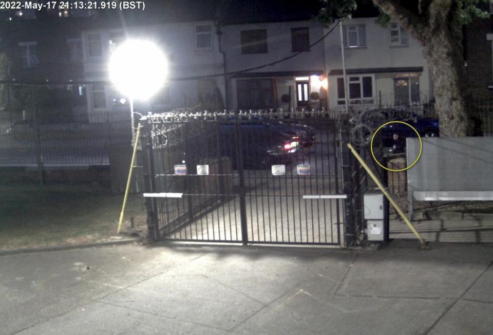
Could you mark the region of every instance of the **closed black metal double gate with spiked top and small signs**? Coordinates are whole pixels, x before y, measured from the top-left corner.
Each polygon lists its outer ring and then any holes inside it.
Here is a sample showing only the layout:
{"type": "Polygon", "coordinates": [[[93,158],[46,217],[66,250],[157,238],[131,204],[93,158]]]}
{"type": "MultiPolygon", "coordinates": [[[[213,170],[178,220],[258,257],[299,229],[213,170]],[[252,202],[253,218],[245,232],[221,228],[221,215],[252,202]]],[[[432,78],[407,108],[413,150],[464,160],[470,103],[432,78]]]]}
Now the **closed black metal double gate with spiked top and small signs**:
{"type": "Polygon", "coordinates": [[[338,134],[324,111],[173,111],[140,122],[151,238],[340,244],[338,134]]]}

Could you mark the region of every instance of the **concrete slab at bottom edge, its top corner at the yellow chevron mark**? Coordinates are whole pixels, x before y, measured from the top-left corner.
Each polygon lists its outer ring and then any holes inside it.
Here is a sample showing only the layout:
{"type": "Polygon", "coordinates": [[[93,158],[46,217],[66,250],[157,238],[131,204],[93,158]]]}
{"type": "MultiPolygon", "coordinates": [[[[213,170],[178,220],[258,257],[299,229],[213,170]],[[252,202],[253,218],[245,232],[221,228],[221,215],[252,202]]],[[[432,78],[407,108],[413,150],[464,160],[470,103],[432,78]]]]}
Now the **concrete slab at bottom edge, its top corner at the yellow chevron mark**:
{"type": "Polygon", "coordinates": [[[450,302],[438,299],[324,299],[292,290],[234,329],[242,334],[424,333],[450,302]]]}

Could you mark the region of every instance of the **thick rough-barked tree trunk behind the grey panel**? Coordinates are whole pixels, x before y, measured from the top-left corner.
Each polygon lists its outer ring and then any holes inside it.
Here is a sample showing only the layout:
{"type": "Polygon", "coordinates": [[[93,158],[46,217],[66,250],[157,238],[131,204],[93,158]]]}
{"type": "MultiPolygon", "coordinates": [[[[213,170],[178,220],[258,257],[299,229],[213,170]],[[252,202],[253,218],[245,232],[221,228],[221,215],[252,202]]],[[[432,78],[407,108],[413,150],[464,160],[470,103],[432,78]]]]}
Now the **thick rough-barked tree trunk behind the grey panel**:
{"type": "Polygon", "coordinates": [[[415,13],[399,0],[373,0],[401,23],[423,46],[433,79],[440,136],[462,137],[472,132],[464,100],[464,61],[459,0],[420,0],[415,13]]]}

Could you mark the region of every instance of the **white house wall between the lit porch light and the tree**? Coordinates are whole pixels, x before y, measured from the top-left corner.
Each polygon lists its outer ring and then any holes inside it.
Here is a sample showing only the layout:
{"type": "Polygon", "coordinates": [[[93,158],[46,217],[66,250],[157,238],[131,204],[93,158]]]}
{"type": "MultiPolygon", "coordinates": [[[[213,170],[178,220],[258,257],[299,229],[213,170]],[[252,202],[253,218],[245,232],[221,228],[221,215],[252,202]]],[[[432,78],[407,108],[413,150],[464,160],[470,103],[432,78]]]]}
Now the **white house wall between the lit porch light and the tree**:
{"type": "MultiPolygon", "coordinates": [[[[432,83],[422,47],[410,33],[403,32],[398,24],[392,22],[387,27],[382,27],[375,23],[375,18],[353,18],[345,21],[343,26],[346,36],[344,52],[347,82],[348,85],[353,84],[353,99],[350,99],[350,103],[371,105],[377,104],[381,99],[384,105],[412,104],[418,103],[416,100],[426,102],[432,98],[432,83]],[[365,31],[364,36],[361,29],[365,31]],[[358,85],[361,92],[366,93],[363,99],[354,98],[357,96],[355,91],[358,85]],[[420,93],[419,98],[416,90],[420,93]]],[[[325,31],[328,31],[328,28],[325,28],[325,31]]],[[[329,106],[344,105],[340,89],[338,94],[337,79],[339,78],[340,85],[340,79],[343,77],[338,27],[327,36],[324,45],[329,79],[329,106]]],[[[348,87],[348,91],[350,90],[348,87]]],[[[351,94],[349,96],[351,98],[351,94]]]]}

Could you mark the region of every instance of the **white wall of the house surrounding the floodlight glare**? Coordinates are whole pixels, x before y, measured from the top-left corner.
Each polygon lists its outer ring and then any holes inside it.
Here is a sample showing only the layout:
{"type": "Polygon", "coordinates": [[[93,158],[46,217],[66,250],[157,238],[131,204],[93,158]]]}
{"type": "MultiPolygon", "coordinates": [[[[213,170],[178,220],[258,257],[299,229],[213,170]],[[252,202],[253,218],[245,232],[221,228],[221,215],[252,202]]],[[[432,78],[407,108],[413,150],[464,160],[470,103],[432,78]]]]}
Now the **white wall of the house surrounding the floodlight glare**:
{"type": "MultiPolygon", "coordinates": [[[[128,28],[128,37],[154,41],[167,56],[169,81],[166,83],[163,93],[158,94],[155,99],[155,110],[196,106],[199,101],[199,86],[207,85],[201,83],[199,79],[182,79],[213,75],[224,71],[222,54],[219,52],[218,36],[212,21],[130,27],[128,28]],[[203,36],[203,30],[205,30],[206,36],[203,36]],[[198,35],[202,37],[198,37],[198,35]],[[208,38],[210,38],[210,43],[207,43],[208,38]]],[[[85,80],[109,80],[107,68],[112,48],[111,43],[116,42],[118,45],[123,39],[125,38],[122,29],[99,29],[82,33],[85,80]]],[[[221,95],[224,96],[223,77],[210,80],[216,82],[221,95]]],[[[89,115],[106,113],[107,110],[121,110],[123,113],[124,110],[128,109],[128,106],[113,104],[113,99],[119,100],[122,97],[114,87],[104,87],[104,104],[101,103],[102,93],[94,93],[98,89],[101,90],[102,88],[94,85],[88,87],[89,115]]],[[[137,103],[136,106],[139,107],[139,104],[137,103]]],[[[141,103],[141,110],[139,111],[146,113],[149,108],[145,103],[141,103]]]]}

